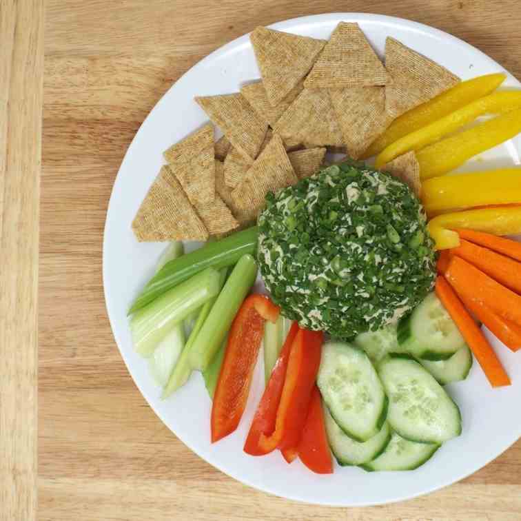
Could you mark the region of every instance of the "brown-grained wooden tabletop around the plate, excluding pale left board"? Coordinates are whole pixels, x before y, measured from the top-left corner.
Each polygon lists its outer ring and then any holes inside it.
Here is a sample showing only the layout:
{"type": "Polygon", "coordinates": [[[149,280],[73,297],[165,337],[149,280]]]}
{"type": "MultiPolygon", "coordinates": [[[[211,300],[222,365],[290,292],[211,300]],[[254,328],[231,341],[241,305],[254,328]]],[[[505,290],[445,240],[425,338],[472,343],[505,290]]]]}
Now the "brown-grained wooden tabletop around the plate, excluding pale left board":
{"type": "Polygon", "coordinates": [[[521,78],[518,0],[48,1],[40,520],[521,519],[521,442],[452,487],[385,507],[314,507],[245,487],[195,456],[161,423],[112,338],[101,280],[105,211],[123,154],[146,114],[198,60],[256,25],[341,11],[433,25],[521,78]]]}

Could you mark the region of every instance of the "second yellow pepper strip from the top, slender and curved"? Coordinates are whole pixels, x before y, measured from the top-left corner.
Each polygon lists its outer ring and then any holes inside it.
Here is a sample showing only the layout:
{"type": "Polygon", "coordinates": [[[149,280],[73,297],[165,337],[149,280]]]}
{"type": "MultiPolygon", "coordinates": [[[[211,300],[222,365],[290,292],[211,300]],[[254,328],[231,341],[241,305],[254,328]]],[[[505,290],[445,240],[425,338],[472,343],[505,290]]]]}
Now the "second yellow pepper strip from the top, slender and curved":
{"type": "Polygon", "coordinates": [[[437,121],[433,121],[433,123],[398,139],[378,154],[375,166],[381,168],[385,163],[389,163],[389,161],[406,154],[410,150],[417,151],[431,143],[436,143],[443,136],[456,132],[479,116],[502,114],[516,108],[521,108],[521,90],[494,92],[489,96],[476,99],[476,101],[464,105],[451,114],[447,114],[447,116],[443,116],[437,121]]]}

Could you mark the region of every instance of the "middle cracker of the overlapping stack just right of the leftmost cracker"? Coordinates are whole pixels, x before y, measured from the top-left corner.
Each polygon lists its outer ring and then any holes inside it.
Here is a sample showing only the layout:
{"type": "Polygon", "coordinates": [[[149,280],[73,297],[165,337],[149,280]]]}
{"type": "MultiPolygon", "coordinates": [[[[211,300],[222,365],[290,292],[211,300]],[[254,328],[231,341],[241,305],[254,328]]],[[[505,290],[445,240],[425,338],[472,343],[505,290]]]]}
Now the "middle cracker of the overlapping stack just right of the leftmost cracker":
{"type": "Polygon", "coordinates": [[[212,203],[215,196],[215,161],[213,143],[188,163],[170,163],[192,205],[212,203]]]}

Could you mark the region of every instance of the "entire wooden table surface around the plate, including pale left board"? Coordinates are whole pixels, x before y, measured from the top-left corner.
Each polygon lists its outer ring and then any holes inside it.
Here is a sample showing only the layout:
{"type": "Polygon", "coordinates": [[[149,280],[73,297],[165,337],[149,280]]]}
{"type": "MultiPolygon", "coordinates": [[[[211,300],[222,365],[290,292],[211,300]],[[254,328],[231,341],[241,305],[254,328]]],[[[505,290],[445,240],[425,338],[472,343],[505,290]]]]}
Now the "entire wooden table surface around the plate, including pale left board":
{"type": "MultiPolygon", "coordinates": [[[[521,519],[521,442],[452,487],[385,507],[306,506],[245,487],[195,456],[156,418],[112,338],[101,280],[105,211],[123,154],[147,112],[183,72],[256,25],[342,11],[433,25],[476,45],[521,79],[518,0],[48,1],[39,248],[40,520],[521,519]]],[[[11,320],[0,330],[9,377],[2,372],[0,379],[0,427],[8,433],[1,440],[0,468],[12,471],[10,480],[2,480],[0,513],[23,521],[36,517],[34,201],[43,20],[37,0],[0,0],[0,107],[6,114],[4,119],[0,113],[0,123],[7,121],[0,127],[0,327],[11,320]],[[10,300],[14,289],[18,298],[10,300]]]]}

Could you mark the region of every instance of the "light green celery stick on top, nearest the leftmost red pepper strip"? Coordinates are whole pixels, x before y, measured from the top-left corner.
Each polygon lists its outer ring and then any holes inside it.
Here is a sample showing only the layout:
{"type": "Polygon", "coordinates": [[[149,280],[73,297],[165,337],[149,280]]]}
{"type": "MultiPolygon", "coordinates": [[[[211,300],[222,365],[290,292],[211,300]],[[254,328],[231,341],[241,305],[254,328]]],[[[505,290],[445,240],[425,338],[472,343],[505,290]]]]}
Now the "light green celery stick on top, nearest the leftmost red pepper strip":
{"type": "Polygon", "coordinates": [[[257,264],[251,255],[244,255],[230,274],[223,290],[217,297],[212,311],[205,320],[190,352],[194,369],[204,371],[217,349],[223,343],[232,320],[257,276],[257,264]]]}

